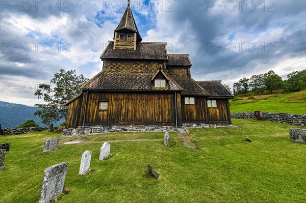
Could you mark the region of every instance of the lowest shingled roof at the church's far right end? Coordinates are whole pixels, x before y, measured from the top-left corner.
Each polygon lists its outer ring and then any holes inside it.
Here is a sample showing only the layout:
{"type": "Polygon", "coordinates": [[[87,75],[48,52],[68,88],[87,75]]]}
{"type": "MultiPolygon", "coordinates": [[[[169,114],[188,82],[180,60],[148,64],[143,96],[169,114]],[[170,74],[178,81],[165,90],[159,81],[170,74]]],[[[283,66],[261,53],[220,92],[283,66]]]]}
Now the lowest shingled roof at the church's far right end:
{"type": "Polygon", "coordinates": [[[197,81],[208,92],[209,97],[234,97],[220,80],[197,81]]]}

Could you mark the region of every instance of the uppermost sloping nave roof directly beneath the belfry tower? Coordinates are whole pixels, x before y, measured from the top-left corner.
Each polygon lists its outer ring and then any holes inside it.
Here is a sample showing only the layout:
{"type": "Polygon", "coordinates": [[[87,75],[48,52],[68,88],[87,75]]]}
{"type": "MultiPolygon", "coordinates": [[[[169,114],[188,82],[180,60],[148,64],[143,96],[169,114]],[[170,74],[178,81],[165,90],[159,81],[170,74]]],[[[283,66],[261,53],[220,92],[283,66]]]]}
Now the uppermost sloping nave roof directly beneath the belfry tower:
{"type": "Polygon", "coordinates": [[[136,50],[121,50],[113,49],[114,41],[109,41],[100,59],[168,60],[166,45],[163,42],[139,42],[136,50]]]}

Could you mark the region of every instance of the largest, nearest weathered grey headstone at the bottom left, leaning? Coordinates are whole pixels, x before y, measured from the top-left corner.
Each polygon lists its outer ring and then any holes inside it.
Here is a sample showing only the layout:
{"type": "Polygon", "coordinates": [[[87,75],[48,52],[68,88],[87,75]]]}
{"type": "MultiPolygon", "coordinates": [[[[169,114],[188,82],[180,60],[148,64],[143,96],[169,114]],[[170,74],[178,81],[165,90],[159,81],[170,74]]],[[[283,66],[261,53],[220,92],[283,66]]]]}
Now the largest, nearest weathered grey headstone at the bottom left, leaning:
{"type": "Polygon", "coordinates": [[[44,170],[39,203],[47,203],[63,192],[68,163],[59,163],[44,170]]]}

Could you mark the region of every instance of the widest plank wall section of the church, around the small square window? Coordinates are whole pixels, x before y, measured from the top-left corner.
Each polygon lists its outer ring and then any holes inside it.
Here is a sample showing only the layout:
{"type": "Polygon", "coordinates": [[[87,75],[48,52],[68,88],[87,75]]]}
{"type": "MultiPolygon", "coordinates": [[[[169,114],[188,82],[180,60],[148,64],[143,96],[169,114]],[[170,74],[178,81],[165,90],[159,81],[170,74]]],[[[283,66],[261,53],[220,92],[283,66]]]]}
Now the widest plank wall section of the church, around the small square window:
{"type": "Polygon", "coordinates": [[[173,93],[88,93],[86,123],[175,123],[174,104],[173,93]]]}

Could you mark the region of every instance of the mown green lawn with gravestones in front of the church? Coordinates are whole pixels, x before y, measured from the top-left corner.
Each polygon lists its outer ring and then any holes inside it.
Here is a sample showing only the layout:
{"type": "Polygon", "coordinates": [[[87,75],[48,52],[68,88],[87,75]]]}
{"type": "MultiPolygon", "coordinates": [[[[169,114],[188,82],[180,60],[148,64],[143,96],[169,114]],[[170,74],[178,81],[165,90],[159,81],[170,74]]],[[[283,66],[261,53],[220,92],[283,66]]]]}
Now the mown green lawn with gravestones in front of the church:
{"type": "Polygon", "coordinates": [[[45,153],[44,140],[59,133],[1,136],[11,148],[0,172],[0,202],[38,202],[44,169],[61,162],[69,163],[64,188],[71,192],[60,202],[306,202],[306,144],[289,136],[291,128],[306,128],[237,119],[233,125],[239,128],[190,128],[184,139],[171,132],[180,139],[175,148],[161,140],[122,141],[162,139],[162,132],[90,135],[45,153]],[[118,139],[110,142],[113,156],[98,161],[103,141],[118,139]],[[80,176],[86,150],[94,171],[80,176]]]}

